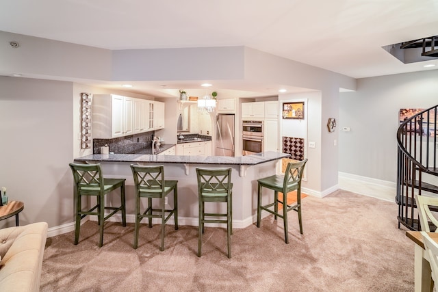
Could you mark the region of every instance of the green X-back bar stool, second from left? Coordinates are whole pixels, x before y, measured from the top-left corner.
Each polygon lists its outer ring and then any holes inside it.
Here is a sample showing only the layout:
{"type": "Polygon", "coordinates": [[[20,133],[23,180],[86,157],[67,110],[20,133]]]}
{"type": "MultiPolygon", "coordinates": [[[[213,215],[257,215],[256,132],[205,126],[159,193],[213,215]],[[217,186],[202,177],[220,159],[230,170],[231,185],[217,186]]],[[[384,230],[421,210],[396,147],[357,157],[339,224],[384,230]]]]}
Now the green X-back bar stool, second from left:
{"type": "Polygon", "coordinates": [[[152,218],[160,218],[162,220],[161,231],[161,247],[159,250],[164,250],[164,227],[169,218],[174,215],[175,230],[178,229],[178,181],[164,180],[164,166],[142,166],[131,164],[131,170],[134,177],[134,186],[136,188],[136,225],[134,230],[134,248],[138,247],[138,230],[140,221],[143,218],[148,218],[149,228],[152,227],[152,218]],[[173,191],[173,209],[166,209],[164,198],[173,191]],[[140,198],[148,199],[146,211],[140,211],[140,198]],[[152,199],[160,199],[160,208],[152,207],[152,199]],[[166,216],[166,213],[168,215],[166,216]]]}

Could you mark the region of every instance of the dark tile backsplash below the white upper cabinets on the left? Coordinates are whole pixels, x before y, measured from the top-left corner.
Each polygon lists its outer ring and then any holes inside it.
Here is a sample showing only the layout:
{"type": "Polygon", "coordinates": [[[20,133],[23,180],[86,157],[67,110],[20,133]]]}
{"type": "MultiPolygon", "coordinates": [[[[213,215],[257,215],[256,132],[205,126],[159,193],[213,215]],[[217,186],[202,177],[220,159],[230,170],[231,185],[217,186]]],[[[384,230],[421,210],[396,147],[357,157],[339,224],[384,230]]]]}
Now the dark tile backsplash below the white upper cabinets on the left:
{"type": "Polygon", "coordinates": [[[153,135],[154,131],[151,131],[114,139],[93,139],[93,154],[100,154],[105,144],[110,146],[110,152],[116,154],[129,154],[152,147],[153,135]]]}

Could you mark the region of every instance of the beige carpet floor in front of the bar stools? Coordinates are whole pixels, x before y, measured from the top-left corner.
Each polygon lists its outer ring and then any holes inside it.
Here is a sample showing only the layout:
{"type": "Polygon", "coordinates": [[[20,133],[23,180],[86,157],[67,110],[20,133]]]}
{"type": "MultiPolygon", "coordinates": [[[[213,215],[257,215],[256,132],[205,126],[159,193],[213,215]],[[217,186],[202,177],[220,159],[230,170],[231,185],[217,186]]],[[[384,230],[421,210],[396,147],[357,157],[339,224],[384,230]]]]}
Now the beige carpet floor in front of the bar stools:
{"type": "Polygon", "coordinates": [[[273,215],[235,229],[232,258],[224,228],[205,228],[203,256],[196,256],[195,226],[140,228],[105,224],[98,247],[96,222],[81,228],[78,245],[66,233],[47,239],[41,291],[413,291],[414,243],[398,229],[397,205],[335,191],[302,200],[304,235],[289,212],[289,244],[273,215]]]}

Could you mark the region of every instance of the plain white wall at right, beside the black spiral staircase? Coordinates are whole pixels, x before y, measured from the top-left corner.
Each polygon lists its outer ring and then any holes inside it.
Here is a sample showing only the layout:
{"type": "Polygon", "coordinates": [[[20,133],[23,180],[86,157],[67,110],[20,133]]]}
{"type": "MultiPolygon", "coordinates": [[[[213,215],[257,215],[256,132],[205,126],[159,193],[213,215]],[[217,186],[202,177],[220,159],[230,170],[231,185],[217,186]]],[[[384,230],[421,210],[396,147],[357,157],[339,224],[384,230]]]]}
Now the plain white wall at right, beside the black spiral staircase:
{"type": "Polygon", "coordinates": [[[398,113],[438,104],[438,70],[358,79],[339,95],[339,172],[396,182],[398,113]]]}

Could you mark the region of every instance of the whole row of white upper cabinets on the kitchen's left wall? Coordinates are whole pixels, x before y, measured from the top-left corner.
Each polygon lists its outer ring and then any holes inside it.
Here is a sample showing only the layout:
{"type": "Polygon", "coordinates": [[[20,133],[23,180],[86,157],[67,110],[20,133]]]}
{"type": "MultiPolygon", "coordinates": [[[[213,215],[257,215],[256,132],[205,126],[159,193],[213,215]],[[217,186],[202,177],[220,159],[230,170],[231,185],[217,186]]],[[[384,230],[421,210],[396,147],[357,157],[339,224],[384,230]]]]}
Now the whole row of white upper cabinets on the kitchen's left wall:
{"type": "MultiPolygon", "coordinates": [[[[116,94],[95,94],[92,101],[94,138],[110,139],[135,133],[163,129],[154,128],[154,101],[131,98],[116,94]]],[[[164,120],[164,103],[159,103],[159,109],[164,120]]]]}

